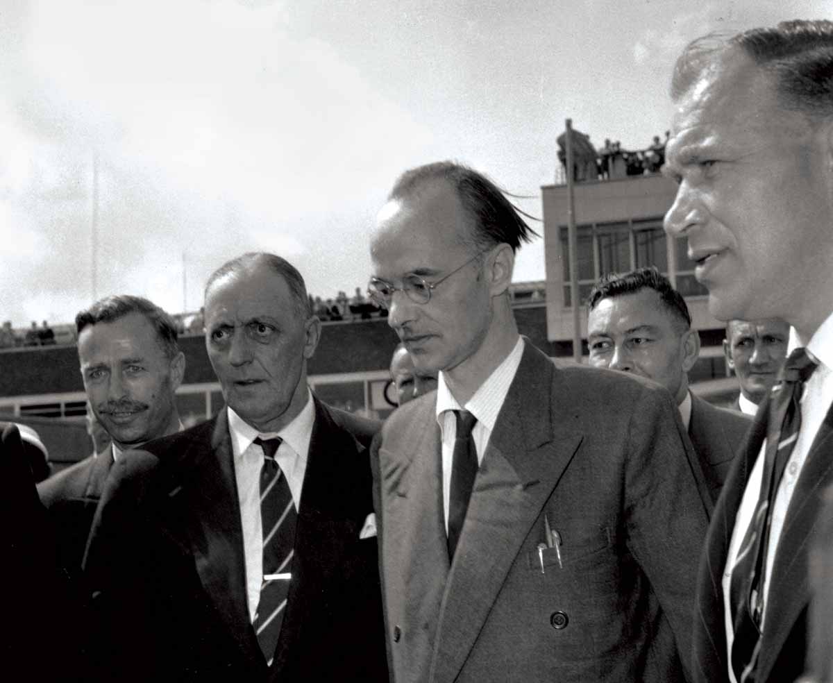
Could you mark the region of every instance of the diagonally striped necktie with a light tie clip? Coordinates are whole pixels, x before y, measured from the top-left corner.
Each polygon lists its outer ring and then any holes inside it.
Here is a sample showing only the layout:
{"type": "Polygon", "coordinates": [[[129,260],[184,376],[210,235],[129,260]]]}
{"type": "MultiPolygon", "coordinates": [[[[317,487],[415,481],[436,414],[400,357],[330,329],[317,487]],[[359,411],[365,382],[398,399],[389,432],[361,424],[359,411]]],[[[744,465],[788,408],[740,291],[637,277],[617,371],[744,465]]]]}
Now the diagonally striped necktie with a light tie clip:
{"type": "Polygon", "coordinates": [[[289,581],[268,575],[288,574],[292,569],[297,512],[287,477],[275,461],[281,439],[261,439],[254,443],[263,449],[261,469],[261,521],[263,527],[263,576],[260,601],[257,603],[254,628],[267,664],[272,664],[277,638],[281,633],[284,608],[287,606],[289,581]]]}

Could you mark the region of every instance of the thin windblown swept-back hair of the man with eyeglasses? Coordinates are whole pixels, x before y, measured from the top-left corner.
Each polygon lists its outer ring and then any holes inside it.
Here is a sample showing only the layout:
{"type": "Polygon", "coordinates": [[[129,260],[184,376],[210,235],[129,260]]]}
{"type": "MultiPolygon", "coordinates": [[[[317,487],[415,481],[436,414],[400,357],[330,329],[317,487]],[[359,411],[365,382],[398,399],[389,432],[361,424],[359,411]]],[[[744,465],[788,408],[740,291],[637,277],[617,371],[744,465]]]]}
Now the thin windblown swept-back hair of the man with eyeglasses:
{"type": "Polygon", "coordinates": [[[531,216],[506,199],[507,193],[501,187],[456,162],[435,162],[409,169],[397,178],[388,199],[411,197],[432,181],[447,182],[460,198],[471,217],[471,239],[477,251],[505,243],[516,252],[521,242],[530,242],[533,235],[538,235],[521,218],[531,216]]]}

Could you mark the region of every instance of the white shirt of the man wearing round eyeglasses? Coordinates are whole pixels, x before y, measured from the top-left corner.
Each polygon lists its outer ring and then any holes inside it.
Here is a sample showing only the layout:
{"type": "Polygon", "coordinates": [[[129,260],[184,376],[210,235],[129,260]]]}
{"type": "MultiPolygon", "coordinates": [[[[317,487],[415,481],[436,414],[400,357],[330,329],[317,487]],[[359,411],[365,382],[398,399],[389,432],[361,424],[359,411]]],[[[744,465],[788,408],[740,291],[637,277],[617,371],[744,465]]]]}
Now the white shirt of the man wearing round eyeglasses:
{"type": "MultiPolygon", "coordinates": [[[[483,461],[486,446],[489,445],[491,431],[495,428],[497,416],[506,401],[512,380],[515,379],[518,366],[523,356],[523,340],[518,337],[514,348],[501,364],[492,371],[474,396],[463,406],[477,418],[471,436],[477,451],[477,465],[483,461]]],[[[436,381],[436,421],[442,432],[442,512],[446,519],[446,533],[448,532],[448,505],[451,499],[451,461],[454,456],[454,439],[457,434],[456,417],[452,411],[460,410],[461,406],[446,385],[445,376],[440,372],[436,381]]]]}

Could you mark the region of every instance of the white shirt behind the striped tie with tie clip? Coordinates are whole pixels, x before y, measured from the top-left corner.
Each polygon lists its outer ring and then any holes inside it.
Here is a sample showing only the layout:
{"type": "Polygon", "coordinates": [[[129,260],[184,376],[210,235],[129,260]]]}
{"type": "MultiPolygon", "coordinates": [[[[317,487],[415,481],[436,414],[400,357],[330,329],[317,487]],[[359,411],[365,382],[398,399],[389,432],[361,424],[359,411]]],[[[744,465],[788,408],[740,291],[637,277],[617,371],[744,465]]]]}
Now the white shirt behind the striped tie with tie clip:
{"type": "Polygon", "coordinates": [[[243,528],[243,555],[246,561],[246,589],[249,618],[254,621],[263,581],[263,529],[260,512],[260,474],[263,466],[263,449],[254,440],[282,438],[275,460],[287,477],[295,508],[301,510],[301,489],[307,472],[312,423],[315,406],[309,390],[307,403],[296,418],[277,432],[260,432],[243,421],[231,408],[228,410],[228,431],[232,437],[234,476],[237,480],[237,497],[240,501],[240,521],[243,528]]]}

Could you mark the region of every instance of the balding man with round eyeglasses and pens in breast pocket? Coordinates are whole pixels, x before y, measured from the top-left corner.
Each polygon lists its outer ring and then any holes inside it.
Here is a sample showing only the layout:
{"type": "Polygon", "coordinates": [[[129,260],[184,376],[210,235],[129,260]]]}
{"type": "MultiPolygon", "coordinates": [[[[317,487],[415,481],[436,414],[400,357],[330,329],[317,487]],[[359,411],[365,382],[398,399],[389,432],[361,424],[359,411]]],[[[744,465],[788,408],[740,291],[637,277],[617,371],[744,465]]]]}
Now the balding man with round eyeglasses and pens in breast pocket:
{"type": "Polygon", "coordinates": [[[396,681],[683,681],[711,501],[668,393],[518,334],[534,234],[491,181],[405,172],[370,292],[437,391],[374,441],[396,681]]]}

